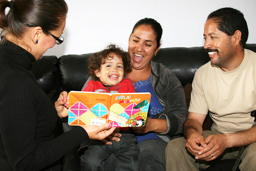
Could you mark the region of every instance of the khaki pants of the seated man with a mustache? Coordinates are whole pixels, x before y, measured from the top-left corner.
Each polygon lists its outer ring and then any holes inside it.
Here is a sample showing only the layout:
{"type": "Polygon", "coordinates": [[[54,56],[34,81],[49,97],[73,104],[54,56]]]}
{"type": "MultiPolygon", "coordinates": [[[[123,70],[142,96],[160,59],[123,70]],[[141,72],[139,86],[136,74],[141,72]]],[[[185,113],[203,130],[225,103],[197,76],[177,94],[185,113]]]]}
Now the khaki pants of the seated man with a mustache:
{"type": "MultiPolygon", "coordinates": [[[[220,134],[218,131],[203,131],[206,139],[209,135],[220,134]]],[[[224,153],[213,161],[196,160],[195,156],[188,153],[184,137],[171,140],[165,149],[167,171],[198,171],[200,168],[208,168],[214,162],[222,159],[236,159],[240,148],[227,148],[224,153]]],[[[246,147],[239,168],[241,171],[256,170],[256,143],[246,147]]]]}

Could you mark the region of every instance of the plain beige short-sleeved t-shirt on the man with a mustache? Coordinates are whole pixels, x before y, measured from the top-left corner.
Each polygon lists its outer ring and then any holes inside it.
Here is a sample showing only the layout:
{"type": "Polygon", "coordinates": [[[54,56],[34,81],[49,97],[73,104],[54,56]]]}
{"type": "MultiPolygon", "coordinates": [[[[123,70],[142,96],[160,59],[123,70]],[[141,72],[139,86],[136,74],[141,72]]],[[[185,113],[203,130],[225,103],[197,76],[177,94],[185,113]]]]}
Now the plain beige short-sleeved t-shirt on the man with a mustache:
{"type": "Polygon", "coordinates": [[[252,127],[256,110],[256,53],[245,49],[241,65],[224,72],[211,62],[201,66],[192,83],[190,112],[210,116],[212,130],[232,133],[252,127]]]}

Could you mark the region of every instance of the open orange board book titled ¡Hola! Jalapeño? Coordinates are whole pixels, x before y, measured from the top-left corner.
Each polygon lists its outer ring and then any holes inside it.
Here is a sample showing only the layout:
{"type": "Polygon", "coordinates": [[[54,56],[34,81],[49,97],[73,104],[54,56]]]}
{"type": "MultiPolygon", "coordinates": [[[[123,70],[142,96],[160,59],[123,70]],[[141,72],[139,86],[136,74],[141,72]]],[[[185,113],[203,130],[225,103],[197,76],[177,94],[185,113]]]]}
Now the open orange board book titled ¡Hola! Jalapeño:
{"type": "Polygon", "coordinates": [[[140,127],[147,120],[150,93],[99,93],[70,91],[69,125],[140,127]]]}

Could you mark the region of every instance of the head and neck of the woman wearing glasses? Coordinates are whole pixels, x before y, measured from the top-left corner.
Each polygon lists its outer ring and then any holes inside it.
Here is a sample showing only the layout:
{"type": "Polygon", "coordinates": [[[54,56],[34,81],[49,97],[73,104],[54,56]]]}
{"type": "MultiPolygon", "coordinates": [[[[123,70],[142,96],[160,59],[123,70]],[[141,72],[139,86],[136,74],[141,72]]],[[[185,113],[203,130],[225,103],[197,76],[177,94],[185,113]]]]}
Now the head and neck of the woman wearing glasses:
{"type": "MultiPolygon", "coordinates": [[[[2,2],[8,1],[2,0],[2,2]]],[[[47,49],[54,47],[55,43],[60,44],[64,40],[60,37],[65,28],[68,12],[67,5],[64,3],[63,1],[57,4],[55,1],[40,0],[31,2],[10,1],[11,8],[8,15],[4,14],[4,10],[1,11],[1,28],[5,32],[1,43],[11,41],[30,52],[38,60],[47,49]],[[46,10],[40,7],[44,5],[46,10]],[[50,8],[51,5],[53,12],[48,12],[47,8],[48,6],[50,8]],[[33,11],[31,9],[37,10],[33,11]],[[56,17],[56,15],[59,17],[56,17]],[[20,16],[21,19],[15,16],[20,16]],[[47,16],[47,20],[44,20],[43,16],[47,16]],[[12,22],[8,23],[10,19],[12,22]],[[56,38],[58,39],[57,42],[56,38]]],[[[7,6],[3,5],[4,8],[7,6]]]]}

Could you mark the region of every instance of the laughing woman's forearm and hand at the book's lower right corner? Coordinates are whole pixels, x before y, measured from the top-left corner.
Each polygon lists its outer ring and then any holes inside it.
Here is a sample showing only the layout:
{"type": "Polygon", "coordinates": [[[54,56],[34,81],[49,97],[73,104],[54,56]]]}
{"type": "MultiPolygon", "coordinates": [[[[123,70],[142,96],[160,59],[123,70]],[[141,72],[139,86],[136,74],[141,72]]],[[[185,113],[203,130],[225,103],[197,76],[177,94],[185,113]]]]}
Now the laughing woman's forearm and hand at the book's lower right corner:
{"type": "Polygon", "coordinates": [[[164,133],[167,131],[167,121],[166,119],[151,119],[147,118],[146,124],[143,127],[131,127],[135,133],[148,133],[150,131],[164,133]]]}

